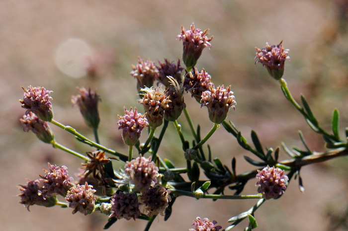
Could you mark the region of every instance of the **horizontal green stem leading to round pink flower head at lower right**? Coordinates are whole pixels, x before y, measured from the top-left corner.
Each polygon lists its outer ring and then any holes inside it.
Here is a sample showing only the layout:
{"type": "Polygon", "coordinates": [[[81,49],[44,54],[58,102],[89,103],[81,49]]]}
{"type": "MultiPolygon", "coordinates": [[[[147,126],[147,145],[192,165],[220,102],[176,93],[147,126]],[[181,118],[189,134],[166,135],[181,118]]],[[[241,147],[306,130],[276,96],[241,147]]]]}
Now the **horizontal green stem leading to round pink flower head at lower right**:
{"type": "Polygon", "coordinates": [[[192,192],[178,190],[178,189],[170,189],[173,194],[194,197],[194,198],[204,198],[204,199],[227,199],[227,200],[246,200],[246,199],[260,199],[262,198],[261,194],[258,195],[215,195],[215,194],[201,194],[194,195],[192,192]]]}

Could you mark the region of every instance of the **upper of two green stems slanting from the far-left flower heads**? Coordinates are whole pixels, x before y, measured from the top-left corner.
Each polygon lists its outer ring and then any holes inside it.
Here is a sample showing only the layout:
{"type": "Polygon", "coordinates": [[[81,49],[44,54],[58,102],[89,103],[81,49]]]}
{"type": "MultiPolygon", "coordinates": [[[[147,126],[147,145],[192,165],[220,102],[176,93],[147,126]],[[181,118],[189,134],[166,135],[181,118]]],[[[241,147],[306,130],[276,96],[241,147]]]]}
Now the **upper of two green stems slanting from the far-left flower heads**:
{"type": "Polygon", "coordinates": [[[57,122],[57,121],[55,121],[55,120],[52,120],[51,123],[54,124],[54,125],[56,125],[56,126],[58,126],[58,127],[60,127],[60,128],[62,128],[62,129],[64,129],[64,130],[66,130],[67,132],[69,132],[69,133],[75,135],[75,136],[77,137],[78,140],[81,140],[83,143],[86,143],[86,144],[88,144],[89,146],[92,146],[92,147],[94,147],[94,148],[100,149],[100,150],[102,150],[102,151],[104,151],[104,152],[106,152],[106,153],[109,153],[109,154],[113,154],[113,155],[115,155],[115,156],[118,156],[118,157],[120,157],[120,159],[121,159],[122,161],[124,161],[124,162],[126,162],[126,161],[128,160],[128,156],[127,156],[127,155],[118,153],[118,152],[116,152],[116,151],[114,151],[114,150],[111,150],[111,149],[108,149],[108,148],[106,148],[106,147],[104,147],[104,146],[101,146],[101,145],[99,145],[99,144],[97,144],[97,143],[95,143],[95,142],[93,142],[93,141],[91,141],[91,140],[88,140],[86,137],[84,137],[83,135],[81,135],[80,133],[78,133],[74,128],[72,128],[72,127],[70,127],[70,126],[65,126],[65,125],[63,125],[63,124],[61,124],[61,123],[59,123],[59,122],[57,122]]]}

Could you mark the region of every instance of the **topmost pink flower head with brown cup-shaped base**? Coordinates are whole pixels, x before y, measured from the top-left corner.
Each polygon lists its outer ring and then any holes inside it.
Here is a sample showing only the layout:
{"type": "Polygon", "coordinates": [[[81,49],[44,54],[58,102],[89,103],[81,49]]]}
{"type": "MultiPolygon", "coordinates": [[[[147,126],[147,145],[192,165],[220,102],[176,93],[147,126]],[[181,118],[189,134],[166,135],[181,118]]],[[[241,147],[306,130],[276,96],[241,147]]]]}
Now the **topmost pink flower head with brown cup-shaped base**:
{"type": "Polygon", "coordinates": [[[186,65],[186,68],[194,67],[202,54],[204,48],[211,48],[209,43],[212,39],[208,38],[207,33],[209,29],[201,31],[200,29],[194,28],[194,24],[191,25],[191,30],[185,30],[181,26],[181,33],[176,36],[176,39],[182,40],[183,52],[182,52],[182,61],[186,65]]]}

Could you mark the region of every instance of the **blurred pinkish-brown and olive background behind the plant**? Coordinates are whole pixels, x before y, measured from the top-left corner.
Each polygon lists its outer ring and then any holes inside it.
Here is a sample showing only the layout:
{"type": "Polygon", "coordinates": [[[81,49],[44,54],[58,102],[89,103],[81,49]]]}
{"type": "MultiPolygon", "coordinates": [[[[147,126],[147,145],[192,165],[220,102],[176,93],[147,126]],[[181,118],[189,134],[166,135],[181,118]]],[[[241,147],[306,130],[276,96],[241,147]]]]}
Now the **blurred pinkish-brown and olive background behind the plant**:
{"type": "MultiPolygon", "coordinates": [[[[129,75],[138,56],[153,61],[181,57],[182,42],[175,40],[180,26],[209,28],[211,50],[205,49],[197,63],[215,85],[231,85],[237,108],[233,121],[251,143],[255,130],[264,147],[273,149],[281,141],[290,148],[303,148],[301,130],[309,147],[324,151],[322,137],[309,129],[302,116],[285,100],[277,81],[261,64],[254,65],[255,47],[283,41],[291,62],[285,63],[284,78],[299,100],[303,93],[324,128],[330,130],[332,111],[341,117],[341,134],[348,124],[348,0],[1,0],[0,1],[0,227],[3,231],[97,231],[107,217],[94,213],[72,215],[71,209],[32,206],[28,212],[19,204],[17,185],[35,180],[47,162],[66,165],[73,177],[79,159],[24,133],[19,122],[20,86],[44,86],[53,90],[55,120],[92,138],[71,96],[76,87],[91,87],[100,94],[102,145],[121,153],[127,147],[118,131],[117,115],[123,107],[137,106],[136,81],[129,75]]],[[[212,127],[205,108],[185,95],[193,123],[202,136],[212,127]]],[[[183,116],[178,121],[186,139],[190,137],[183,116]]],[[[57,142],[81,153],[93,149],[77,142],[58,127],[51,126],[57,142]]],[[[160,129],[158,131],[161,131],[160,129]]],[[[159,133],[159,132],[158,132],[159,133]]],[[[145,142],[146,137],[141,138],[145,142]]],[[[192,139],[192,137],[190,138],[192,139]]],[[[184,167],[179,137],[173,124],[164,137],[159,154],[184,167]]],[[[243,150],[222,127],[208,142],[214,157],[231,166],[237,159],[237,174],[255,169],[243,150]]],[[[204,147],[206,150],[206,146],[204,147]]],[[[282,150],[280,160],[289,158],[282,150]]],[[[114,162],[114,166],[123,163],[114,162]]],[[[305,192],[292,180],[279,200],[267,201],[255,214],[258,231],[348,230],[348,158],[305,166],[301,176],[305,192]]],[[[201,175],[203,173],[201,172],[201,175]]],[[[255,194],[251,180],[243,194],[255,194]]],[[[227,190],[226,193],[234,192],[227,190]]],[[[60,198],[63,201],[63,198],[60,198]]],[[[216,220],[223,228],[227,220],[248,210],[256,200],[216,201],[180,197],[172,217],[156,218],[151,230],[188,230],[197,217],[216,220]]],[[[244,230],[247,222],[235,228],[244,230]]],[[[110,230],[138,231],[145,221],[117,221],[110,230]]]]}

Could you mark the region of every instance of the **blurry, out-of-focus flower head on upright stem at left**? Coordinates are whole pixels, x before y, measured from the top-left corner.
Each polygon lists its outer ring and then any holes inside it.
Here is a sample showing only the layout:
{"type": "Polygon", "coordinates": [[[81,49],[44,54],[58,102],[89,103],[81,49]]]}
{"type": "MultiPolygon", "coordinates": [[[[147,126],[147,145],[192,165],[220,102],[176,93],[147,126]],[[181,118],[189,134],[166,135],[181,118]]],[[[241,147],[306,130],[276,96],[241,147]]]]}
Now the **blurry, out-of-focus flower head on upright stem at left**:
{"type": "Polygon", "coordinates": [[[84,117],[85,123],[88,127],[97,129],[100,118],[98,112],[98,101],[101,101],[96,92],[91,91],[90,88],[86,90],[85,87],[77,87],[79,94],[72,96],[71,102],[73,106],[79,106],[80,112],[84,117]]]}

